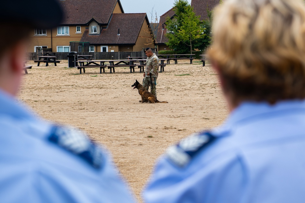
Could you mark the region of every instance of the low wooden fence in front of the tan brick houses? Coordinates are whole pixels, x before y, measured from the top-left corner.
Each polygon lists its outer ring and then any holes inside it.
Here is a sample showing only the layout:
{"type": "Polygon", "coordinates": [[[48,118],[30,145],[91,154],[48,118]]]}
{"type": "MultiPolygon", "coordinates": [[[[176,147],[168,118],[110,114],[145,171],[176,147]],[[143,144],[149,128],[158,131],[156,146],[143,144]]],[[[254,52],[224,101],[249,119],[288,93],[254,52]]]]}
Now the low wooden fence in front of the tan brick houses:
{"type": "MultiPolygon", "coordinates": [[[[45,54],[46,52],[43,52],[45,54]]],[[[47,52],[57,56],[57,60],[68,60],[68,52],[47,52]]],[[[37,60],[37,56],[42,56],[42,52],[28,52],[28,60],[37,60]]],[[[122,60],[130,57],[146,57],[144,51],[134,52],[78,52],[78,55],[92,55],[95,60],[122,60]]]]}

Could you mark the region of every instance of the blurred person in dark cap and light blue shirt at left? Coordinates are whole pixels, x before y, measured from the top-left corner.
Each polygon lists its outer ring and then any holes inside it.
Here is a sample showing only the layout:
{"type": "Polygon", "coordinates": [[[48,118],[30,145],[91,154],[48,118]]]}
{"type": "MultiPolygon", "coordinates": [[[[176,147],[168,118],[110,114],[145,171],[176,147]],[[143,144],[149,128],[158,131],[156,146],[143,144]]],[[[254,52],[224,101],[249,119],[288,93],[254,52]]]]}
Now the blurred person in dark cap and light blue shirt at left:
{"type": "Polygon", "coordinates": [[[57,2],[9,0],[1,8],[0,201],[134,202],[105,150],[81,131],[44,121],[16,100],[27,36],[34,28],[59,25],[57,2]]]}

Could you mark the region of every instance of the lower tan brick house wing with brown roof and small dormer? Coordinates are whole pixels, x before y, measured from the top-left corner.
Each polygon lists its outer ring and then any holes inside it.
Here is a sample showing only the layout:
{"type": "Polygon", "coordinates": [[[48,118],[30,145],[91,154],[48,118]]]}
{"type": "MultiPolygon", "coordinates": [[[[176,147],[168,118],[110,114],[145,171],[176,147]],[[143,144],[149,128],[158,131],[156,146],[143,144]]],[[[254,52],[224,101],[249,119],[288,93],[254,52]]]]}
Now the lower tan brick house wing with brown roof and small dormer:
{"type": "Polygon", "coordinates": [[[115,13],[107,27],[92,33],[93,20],[81,38],[90,42],[93,51],[142,51],[145,47],[154,47],[154,39],[149,28],[146,13],[115,13]]]}

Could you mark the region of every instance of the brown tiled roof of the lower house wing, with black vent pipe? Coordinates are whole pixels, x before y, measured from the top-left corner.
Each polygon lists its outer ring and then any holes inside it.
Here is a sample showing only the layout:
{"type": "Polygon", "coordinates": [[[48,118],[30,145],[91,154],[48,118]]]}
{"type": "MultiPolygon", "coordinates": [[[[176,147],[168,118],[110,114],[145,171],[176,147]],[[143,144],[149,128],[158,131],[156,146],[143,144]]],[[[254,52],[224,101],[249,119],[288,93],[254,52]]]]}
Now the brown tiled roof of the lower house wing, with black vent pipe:
{"type": "Polygon", "coordinates": [[[113,14],[107,29],[98,35],[89,35],[89,30],[86,29],[81,41],[90,44],[135,44],[145,19],[148,21],[146,13],[113,14]]]}

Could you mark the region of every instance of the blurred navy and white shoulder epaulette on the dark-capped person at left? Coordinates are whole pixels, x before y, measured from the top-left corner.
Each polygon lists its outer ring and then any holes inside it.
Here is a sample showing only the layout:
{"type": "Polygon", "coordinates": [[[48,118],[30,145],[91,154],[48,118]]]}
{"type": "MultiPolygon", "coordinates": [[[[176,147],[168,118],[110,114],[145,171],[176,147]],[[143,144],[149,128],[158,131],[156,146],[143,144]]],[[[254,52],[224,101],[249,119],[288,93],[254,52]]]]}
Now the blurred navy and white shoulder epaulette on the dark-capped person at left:
{"type": "Polygon", "coordinates": [[[53,126],[48,140],[81,157],[96,169],[102,165],[102,151],[79,129],[53,126]]]}

